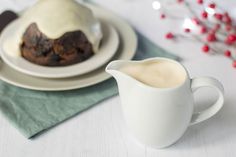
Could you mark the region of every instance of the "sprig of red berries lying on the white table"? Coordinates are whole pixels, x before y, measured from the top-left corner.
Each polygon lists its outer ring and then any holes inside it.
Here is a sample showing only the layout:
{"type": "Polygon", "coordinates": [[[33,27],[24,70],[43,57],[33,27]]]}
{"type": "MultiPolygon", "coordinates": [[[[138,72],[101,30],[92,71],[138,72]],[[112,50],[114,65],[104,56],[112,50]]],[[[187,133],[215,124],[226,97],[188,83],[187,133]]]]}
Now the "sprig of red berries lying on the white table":
{"type": "MultiPolygon", "coordinates": [[[[199,30],[196,35],[193,35],[192,28],[183,28],[183,31],[191,36],[183,36],[177,33],[168,32],[165,38],[173,40],[179,37],[193,38],[202,43],[201,51],[207,54],[216,53],[229,58],[232,61],[232,66],[236,68],[236,26],[233,25],[233,19],[229,13],[217,6],[216,3],[205,4],[204,0],[196,0],[196,3],[202,6],[203,10],[200,14],[196,13],[191,8],[189,2],[177,0],[178,4],[185,6],[191,13],[191,21],[199,30]],[[214,11],[213,15],[207,12],[206,6],[214,11]],[[218,11],[220,10],[220,11],[218,11]],[[215,19],[212,21],[212,19],[215,19]],[[211,44],[212,43],[212,44],[211,44]],[[222,44],[223,49],[218,50],[214,47],[215,44],[222,44]]],[[[161,14],[160,18],[165,19],[167,13],[161,14]]],[[[173,18],[172,18],[173,19],[173,18]]]]}

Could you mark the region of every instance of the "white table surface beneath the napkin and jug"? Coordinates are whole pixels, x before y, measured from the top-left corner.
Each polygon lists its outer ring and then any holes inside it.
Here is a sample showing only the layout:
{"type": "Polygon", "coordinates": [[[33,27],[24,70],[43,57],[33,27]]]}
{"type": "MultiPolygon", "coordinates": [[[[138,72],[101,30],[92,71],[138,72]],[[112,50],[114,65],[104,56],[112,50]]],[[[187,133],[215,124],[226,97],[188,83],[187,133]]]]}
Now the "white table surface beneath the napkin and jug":
{"type": "MultiPolygon", "coordinates": [[[[236,1],[220,1],[229,9],[236,1]]],[[[30,0],[0,0],[0,10],[21,10],[30,0]]],[[[162,22],[152,10],[151,0],[98,0],[98,3],[129,21],[137,30],[183,58],[190,75],[213,76],[225,87],[225,105],[213,118],[188,128],[173,146],[156,150],[129,138],[118,96],[28,140],[0,115],[0,157],[235,157],[236,156],[236,69],[223,56],[208,56],[200,44],[163,40],[175,24],[162,22]],[[172,27],[172,28],[171,28],[172,27]]],[[[216,94],[202,89],[196,94],[196,110],[214,101],[216,94]],[[205,105],[204,105],[205,104],[205,105]]]]}

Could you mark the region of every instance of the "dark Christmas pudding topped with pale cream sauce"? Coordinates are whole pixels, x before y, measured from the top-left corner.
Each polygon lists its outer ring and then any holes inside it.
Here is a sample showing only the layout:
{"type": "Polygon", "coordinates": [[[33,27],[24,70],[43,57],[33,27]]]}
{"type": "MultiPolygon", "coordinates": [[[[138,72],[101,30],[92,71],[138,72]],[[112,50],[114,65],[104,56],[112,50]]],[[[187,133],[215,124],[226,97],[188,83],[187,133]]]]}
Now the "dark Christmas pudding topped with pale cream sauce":
{"type": "Polygon", "coordinates": [[[74,0],[39,0],[18,19],[4,49],[44,66],[66,66],[97,53],[102,38],[98,20],[74,0]]]}

